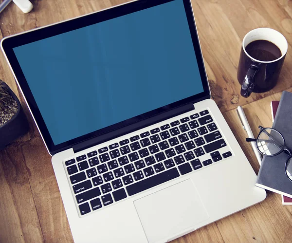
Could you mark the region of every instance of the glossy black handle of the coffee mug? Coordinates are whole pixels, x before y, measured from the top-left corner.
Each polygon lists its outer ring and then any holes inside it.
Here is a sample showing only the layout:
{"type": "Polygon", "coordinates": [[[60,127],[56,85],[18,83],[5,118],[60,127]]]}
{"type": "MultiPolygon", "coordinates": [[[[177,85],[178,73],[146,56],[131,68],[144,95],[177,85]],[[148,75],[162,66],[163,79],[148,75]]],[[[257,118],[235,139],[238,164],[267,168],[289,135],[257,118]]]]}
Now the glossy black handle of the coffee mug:
{"type": "Polygon", "coordinates": [[[244,77],[240,94],[245,98],[250,96],[251,93],[253,92],[253,89],[255,87],[255,75],[256,75],[257,70],[259,69],[259,65],[260,63],[258,62],[254,62],[253,64],[251,64],[244,77]]]}

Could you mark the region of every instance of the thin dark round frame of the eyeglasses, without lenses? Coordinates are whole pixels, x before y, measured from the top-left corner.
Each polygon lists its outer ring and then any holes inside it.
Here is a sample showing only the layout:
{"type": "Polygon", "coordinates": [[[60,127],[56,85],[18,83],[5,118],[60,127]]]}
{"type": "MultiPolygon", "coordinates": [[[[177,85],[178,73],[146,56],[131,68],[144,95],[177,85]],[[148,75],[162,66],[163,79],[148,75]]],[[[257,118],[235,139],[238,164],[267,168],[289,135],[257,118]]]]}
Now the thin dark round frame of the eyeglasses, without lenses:
{"type": "MultiPolygon", "coordinates": [[[[282,139],[283,139],[283,142],[284,142],[284,146],[283,146],[283,148],[282,148],[280,151],[278,151],[278,152],[275,153],[275,154],[267,155],[267,154],[262,153],[262,152],[259,150],[259,148],[258,148],[258,146],[257,146],[257,143],[256,143],[256,148],[257,148],[257,150],[258,150],[262,155],[267,156],[267,157],[273,157],[273,156],[276,156],[276,155],[278,155],[278,154],[280,154],[281,152],[284,151],[284,153],[285,153],[286,155],[288,155],[288,158],[287,158],[287,160],[286,160],[286,162],[285,162],[285,174],[286,174],[286,176],[288,177],[288,179],[292,182],[292,178],[290,178],[289,175],[287,174],[287,165],[288,165],[288,161],[289,161],[290,159],[292,159],[292,150],[286,146],[284,136],[282,135],[281,132],[279,132],[278,130],[276,130],[276,129],[274,129],[274,128],[264,128],[264,127],[262,127],[262,126],[258,126],[258,128],[259,128],[260,132],[258,133],[257,137],[256,137],[256,138],[246,138],[246,139],[245,139],[246,142],[257,142],[257,140],[258,140],[259,136],[261,135],[261,133],[262,133],[263,131],[267,130],[267,129],[271,129],[271,130],[277,131],[277,132],[281,135],[281,137],[282,137],[282,139]]],[[[269,135],[267,135],[267,136],[270,137],[269,135]]],[[[271,138],[271,137],[270,137],[270,138],[271,138]]],[[[273,139],[273,138],[272,138],[272,139],[273,139]]],[[[274,140],[274,139],[273,139],[273,140],[274,140]]],[[[278,146],[277,146],[277,147],[278,147],[278,146]]],[[[289,172],[289,173],[290,173],[290,172],[289,172]]],[[[292,173],[290,173],[290,176],[292,177],[292,173]]]]}

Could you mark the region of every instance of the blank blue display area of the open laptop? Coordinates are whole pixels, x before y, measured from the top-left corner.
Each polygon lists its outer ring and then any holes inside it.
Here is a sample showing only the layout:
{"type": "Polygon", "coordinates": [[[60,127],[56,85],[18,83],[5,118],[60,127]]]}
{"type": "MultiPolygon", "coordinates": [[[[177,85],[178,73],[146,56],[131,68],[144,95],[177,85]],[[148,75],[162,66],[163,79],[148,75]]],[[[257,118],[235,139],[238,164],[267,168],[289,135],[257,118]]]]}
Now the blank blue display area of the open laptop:
{"type": "Polygon", "coordinates": [[[203,92],[183,0],[13,50],[55,145],[203,92]]]}

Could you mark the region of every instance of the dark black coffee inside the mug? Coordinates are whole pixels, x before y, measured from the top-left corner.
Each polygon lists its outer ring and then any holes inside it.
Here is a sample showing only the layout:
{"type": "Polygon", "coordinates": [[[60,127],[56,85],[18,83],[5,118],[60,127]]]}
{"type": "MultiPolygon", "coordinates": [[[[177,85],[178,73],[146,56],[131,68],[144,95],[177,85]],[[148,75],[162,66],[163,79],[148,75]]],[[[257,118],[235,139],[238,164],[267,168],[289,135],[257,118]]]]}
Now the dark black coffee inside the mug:
{"type": "Polygon", "coordinates": [[[255,40],[245,47],[246,52],[259,61],[273,61],[282,56],[281,50],[268,40],[255,40]]]}

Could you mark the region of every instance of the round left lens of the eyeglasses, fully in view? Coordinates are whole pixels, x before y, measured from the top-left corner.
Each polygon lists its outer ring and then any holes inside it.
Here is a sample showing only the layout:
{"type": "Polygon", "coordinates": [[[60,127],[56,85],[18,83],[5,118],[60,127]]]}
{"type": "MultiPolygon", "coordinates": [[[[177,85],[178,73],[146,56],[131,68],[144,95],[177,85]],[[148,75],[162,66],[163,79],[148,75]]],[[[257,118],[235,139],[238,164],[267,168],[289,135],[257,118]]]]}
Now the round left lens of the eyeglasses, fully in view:
{"type": "Polygon", "coordinates": [[[267,128],[259,134],[256,145],[262,154],[271,156],[283,150],[285,142],[278,131],[267,128]]]}

